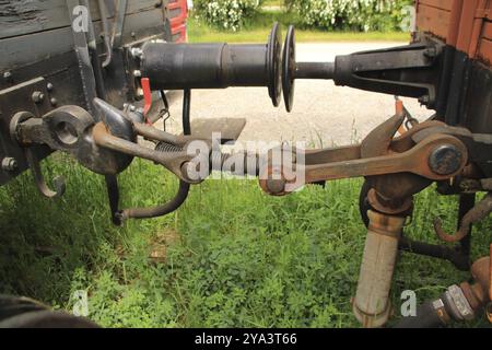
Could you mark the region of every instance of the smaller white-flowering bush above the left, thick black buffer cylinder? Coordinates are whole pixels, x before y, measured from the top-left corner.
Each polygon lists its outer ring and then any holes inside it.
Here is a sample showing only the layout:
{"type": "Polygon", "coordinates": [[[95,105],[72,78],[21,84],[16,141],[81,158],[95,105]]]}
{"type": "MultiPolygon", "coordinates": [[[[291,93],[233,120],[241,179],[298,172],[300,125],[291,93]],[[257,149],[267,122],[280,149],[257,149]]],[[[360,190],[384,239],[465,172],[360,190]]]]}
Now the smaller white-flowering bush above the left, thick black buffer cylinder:
{"type": "Polygon", "coordinates": [[[253,16],[261,0],[195,0],[196,15],[212,26],[238,31],[253,16]]]}

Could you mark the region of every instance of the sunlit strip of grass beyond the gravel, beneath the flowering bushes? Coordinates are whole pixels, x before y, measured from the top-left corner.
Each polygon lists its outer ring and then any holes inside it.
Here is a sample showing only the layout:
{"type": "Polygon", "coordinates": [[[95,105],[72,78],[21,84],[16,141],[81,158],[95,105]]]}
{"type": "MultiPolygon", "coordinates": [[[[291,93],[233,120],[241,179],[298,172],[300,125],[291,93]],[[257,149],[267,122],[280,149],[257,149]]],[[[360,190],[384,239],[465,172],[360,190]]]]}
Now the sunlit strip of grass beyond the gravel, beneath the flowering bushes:
{"type": "Polygon", "coordinates": [[[237,32],[220,31],[190,16],[188,20],[188,37],[190,43],[266,43],[272,24],[279,22],[285,34],[289,24],[296,25],[297,43],[328,43],[328,42],[409,42],[410,35],[401,32],[326,32],[304,30],[298,25],[295,14],[284,12],[261,12],[245,27],[237,32]]]}

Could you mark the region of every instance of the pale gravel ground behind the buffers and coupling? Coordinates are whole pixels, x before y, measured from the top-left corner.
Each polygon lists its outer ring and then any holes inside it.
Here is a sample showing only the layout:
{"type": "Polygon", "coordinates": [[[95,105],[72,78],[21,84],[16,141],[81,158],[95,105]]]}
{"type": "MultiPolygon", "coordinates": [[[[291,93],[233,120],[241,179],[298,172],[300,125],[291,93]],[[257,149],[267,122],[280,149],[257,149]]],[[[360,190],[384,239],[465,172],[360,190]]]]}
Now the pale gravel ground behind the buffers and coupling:
{"type": "MultiPolygon", "coordinates": [[[[405,45],[405,43],[298,44],[297,61],[329,61],[335,55],[405,45]]],[[[167,130],[180,132],[181,93],[169,95],[172,119],[167,130]]],[[[403,98],[418,119],[432,115],[415,100],[403,98]]],[[[294,108],[274,108],[266,88],[192,91],[195,118],[246,118],[239,141],[306,141],[308,145],[343,145],[363,139],[394,114],[394,96],[335,86],[331,81],[296,82],[294,108]]]]}

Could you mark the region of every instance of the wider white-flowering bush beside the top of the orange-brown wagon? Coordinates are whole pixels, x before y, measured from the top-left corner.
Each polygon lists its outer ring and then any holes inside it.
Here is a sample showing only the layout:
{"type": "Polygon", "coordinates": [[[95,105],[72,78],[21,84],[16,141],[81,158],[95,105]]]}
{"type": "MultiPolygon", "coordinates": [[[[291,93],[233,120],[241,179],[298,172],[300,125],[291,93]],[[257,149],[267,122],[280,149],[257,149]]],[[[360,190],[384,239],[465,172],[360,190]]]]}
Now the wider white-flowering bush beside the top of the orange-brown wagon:
{"type": "Polygon", "coordinates": [[[358,31],[396,30],[412,0],[285,0],[308,27],[358,31]]]}

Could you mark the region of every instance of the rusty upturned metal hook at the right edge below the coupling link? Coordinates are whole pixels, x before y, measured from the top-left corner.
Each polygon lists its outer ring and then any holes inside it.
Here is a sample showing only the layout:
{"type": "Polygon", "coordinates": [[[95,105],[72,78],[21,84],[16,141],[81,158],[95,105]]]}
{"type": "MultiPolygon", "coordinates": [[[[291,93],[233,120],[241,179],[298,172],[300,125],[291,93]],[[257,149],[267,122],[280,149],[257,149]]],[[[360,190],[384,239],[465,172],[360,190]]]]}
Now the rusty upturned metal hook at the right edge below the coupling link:
{"type": "Polygon", "coordinates": [[[473,209],[471,209],[461,221],[459,230],[449,235],[443,230],[443,225],[440,219],[434,220],[434,230],[437,236],[448,243],[456,243],[464,240],[469,233],[473,223],[483,220],[492,212],[492,192],[489,192],[473,209]]]}

